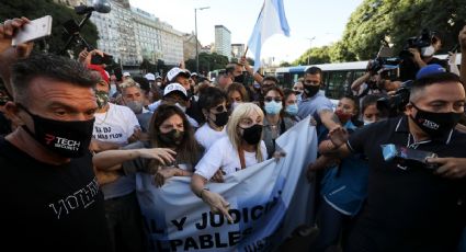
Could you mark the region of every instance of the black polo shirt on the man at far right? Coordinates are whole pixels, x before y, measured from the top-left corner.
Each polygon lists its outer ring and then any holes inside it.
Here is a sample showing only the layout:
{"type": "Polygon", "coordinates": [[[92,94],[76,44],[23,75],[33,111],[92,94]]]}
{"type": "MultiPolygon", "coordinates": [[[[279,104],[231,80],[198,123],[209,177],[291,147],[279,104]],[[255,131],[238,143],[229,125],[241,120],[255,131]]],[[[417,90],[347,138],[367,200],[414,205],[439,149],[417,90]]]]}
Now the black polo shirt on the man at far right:
{"type": "Polygon", "coordinates": [[[466,158],[466,135],[414,144],[402,116],[351,135],[353,152],[368,157],[367,204],[350,236],[348,251],[455,251],[466,225],[466,180],[445,179],[422,163],[384,161],[380,145],[395,144],[466,158]]]}

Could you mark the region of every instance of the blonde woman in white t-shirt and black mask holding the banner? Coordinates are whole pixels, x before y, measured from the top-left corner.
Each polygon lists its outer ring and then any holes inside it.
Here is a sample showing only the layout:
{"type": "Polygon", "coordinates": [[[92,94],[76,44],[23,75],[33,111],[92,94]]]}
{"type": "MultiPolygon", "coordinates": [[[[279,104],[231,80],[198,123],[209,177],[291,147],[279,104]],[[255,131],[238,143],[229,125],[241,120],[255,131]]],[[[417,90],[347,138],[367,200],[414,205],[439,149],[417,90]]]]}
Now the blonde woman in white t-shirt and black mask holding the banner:
{"type": "Polygon", "coordinates": [[[218,139],[195,167],[191,190],[207,203],[213,211],[223,213],[229,220],[229,204],[219,194],[208,191],[205,184],[218,170],[229,174],[266,158],[265,144],[262,141],[263,118],[264,114],[258,105],[239,104],[228,122],[228,137],[218,139]]]}

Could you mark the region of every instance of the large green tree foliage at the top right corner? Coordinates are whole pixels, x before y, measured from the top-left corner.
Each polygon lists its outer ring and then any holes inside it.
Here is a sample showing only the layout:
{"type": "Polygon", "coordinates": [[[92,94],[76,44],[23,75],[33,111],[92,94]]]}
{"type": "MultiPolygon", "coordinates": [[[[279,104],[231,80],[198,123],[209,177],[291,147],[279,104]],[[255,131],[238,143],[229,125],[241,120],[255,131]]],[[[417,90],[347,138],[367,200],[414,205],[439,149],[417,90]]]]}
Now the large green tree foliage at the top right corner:
{"type": "Polygon", "coordinates": [[[328,50],[307,50],[294,64],[307,64],[309,54],[310,64],[372,59],[382,41],[393,44],[394,51],[399,53],[407,39],[419,36],[422,28],[440,33],[440,53],[445,54],[457,43],[465,16],[465,0],[364,0],[351,14],[341,41],[328,50]]]}

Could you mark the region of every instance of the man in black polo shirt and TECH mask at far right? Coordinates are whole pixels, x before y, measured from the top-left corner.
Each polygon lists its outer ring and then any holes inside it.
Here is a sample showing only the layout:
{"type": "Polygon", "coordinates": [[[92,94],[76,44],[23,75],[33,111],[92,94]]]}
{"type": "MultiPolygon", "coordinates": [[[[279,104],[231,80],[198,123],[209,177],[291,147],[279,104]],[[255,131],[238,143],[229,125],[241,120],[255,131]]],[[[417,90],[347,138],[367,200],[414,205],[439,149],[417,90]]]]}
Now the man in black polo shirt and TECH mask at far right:
{"type": "Polygon", "coordinates": [[[434,73],[414,82],[406,115],[366,126],[346,144],[343,129],[330,133],[337,153],[370,162],[367,203],[345,251],[456,251],[466,225],[466,134],[455,129],[464,103],[459,78],[434,73]],[[439,158],[384,160],[387,144],[439,158]]]}

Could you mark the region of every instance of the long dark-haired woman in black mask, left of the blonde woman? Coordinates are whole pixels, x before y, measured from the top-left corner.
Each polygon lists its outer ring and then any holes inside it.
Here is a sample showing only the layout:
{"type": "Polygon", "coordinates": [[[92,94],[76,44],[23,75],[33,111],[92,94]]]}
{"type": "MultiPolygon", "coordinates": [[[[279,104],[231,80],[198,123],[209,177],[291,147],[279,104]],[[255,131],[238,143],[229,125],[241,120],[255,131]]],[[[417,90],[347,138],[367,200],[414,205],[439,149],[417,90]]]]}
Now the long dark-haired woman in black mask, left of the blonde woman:
{"type": "Polygon", "coordinates": [[[154,176],[162,186],[172,176],[190,176],[201,159],[202,147],[184,113],[177,106],[163,104],[154,113],[149,141],[138,141],[120,150],[94,156],[95,168],[103,171],[123,169],[127,176],[154,176]]]}

